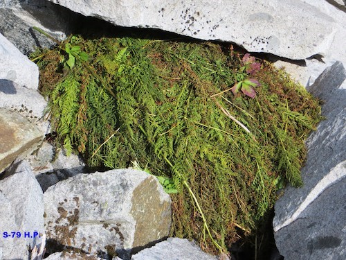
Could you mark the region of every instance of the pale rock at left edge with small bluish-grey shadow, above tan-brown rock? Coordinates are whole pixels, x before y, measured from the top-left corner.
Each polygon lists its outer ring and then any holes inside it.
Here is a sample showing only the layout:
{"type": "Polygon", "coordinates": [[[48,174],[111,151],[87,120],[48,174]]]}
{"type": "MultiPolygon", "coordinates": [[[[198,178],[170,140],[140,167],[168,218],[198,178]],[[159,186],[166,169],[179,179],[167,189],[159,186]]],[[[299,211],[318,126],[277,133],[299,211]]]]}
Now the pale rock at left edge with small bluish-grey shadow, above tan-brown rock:
{"type": "Polygon", "coordinates": [[[26,116],[46,134],[50,132],[43,118],[47,102],[37,91],[38,80],[37,65],[0,34],[0,107],[26,116]]]}

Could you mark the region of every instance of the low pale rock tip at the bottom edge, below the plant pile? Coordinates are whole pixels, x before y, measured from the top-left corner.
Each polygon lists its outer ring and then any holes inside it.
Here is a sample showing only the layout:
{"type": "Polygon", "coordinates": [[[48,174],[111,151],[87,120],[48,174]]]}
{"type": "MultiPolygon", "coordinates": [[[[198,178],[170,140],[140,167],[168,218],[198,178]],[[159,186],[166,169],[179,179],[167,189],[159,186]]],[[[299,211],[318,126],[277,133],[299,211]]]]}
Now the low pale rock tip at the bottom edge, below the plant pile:
{"type": "Polygon", "coordinates": [[[131,256],[131,260],[217,260],[188,239],[168,238],[152,248],[146,248],[131,256]]]}

